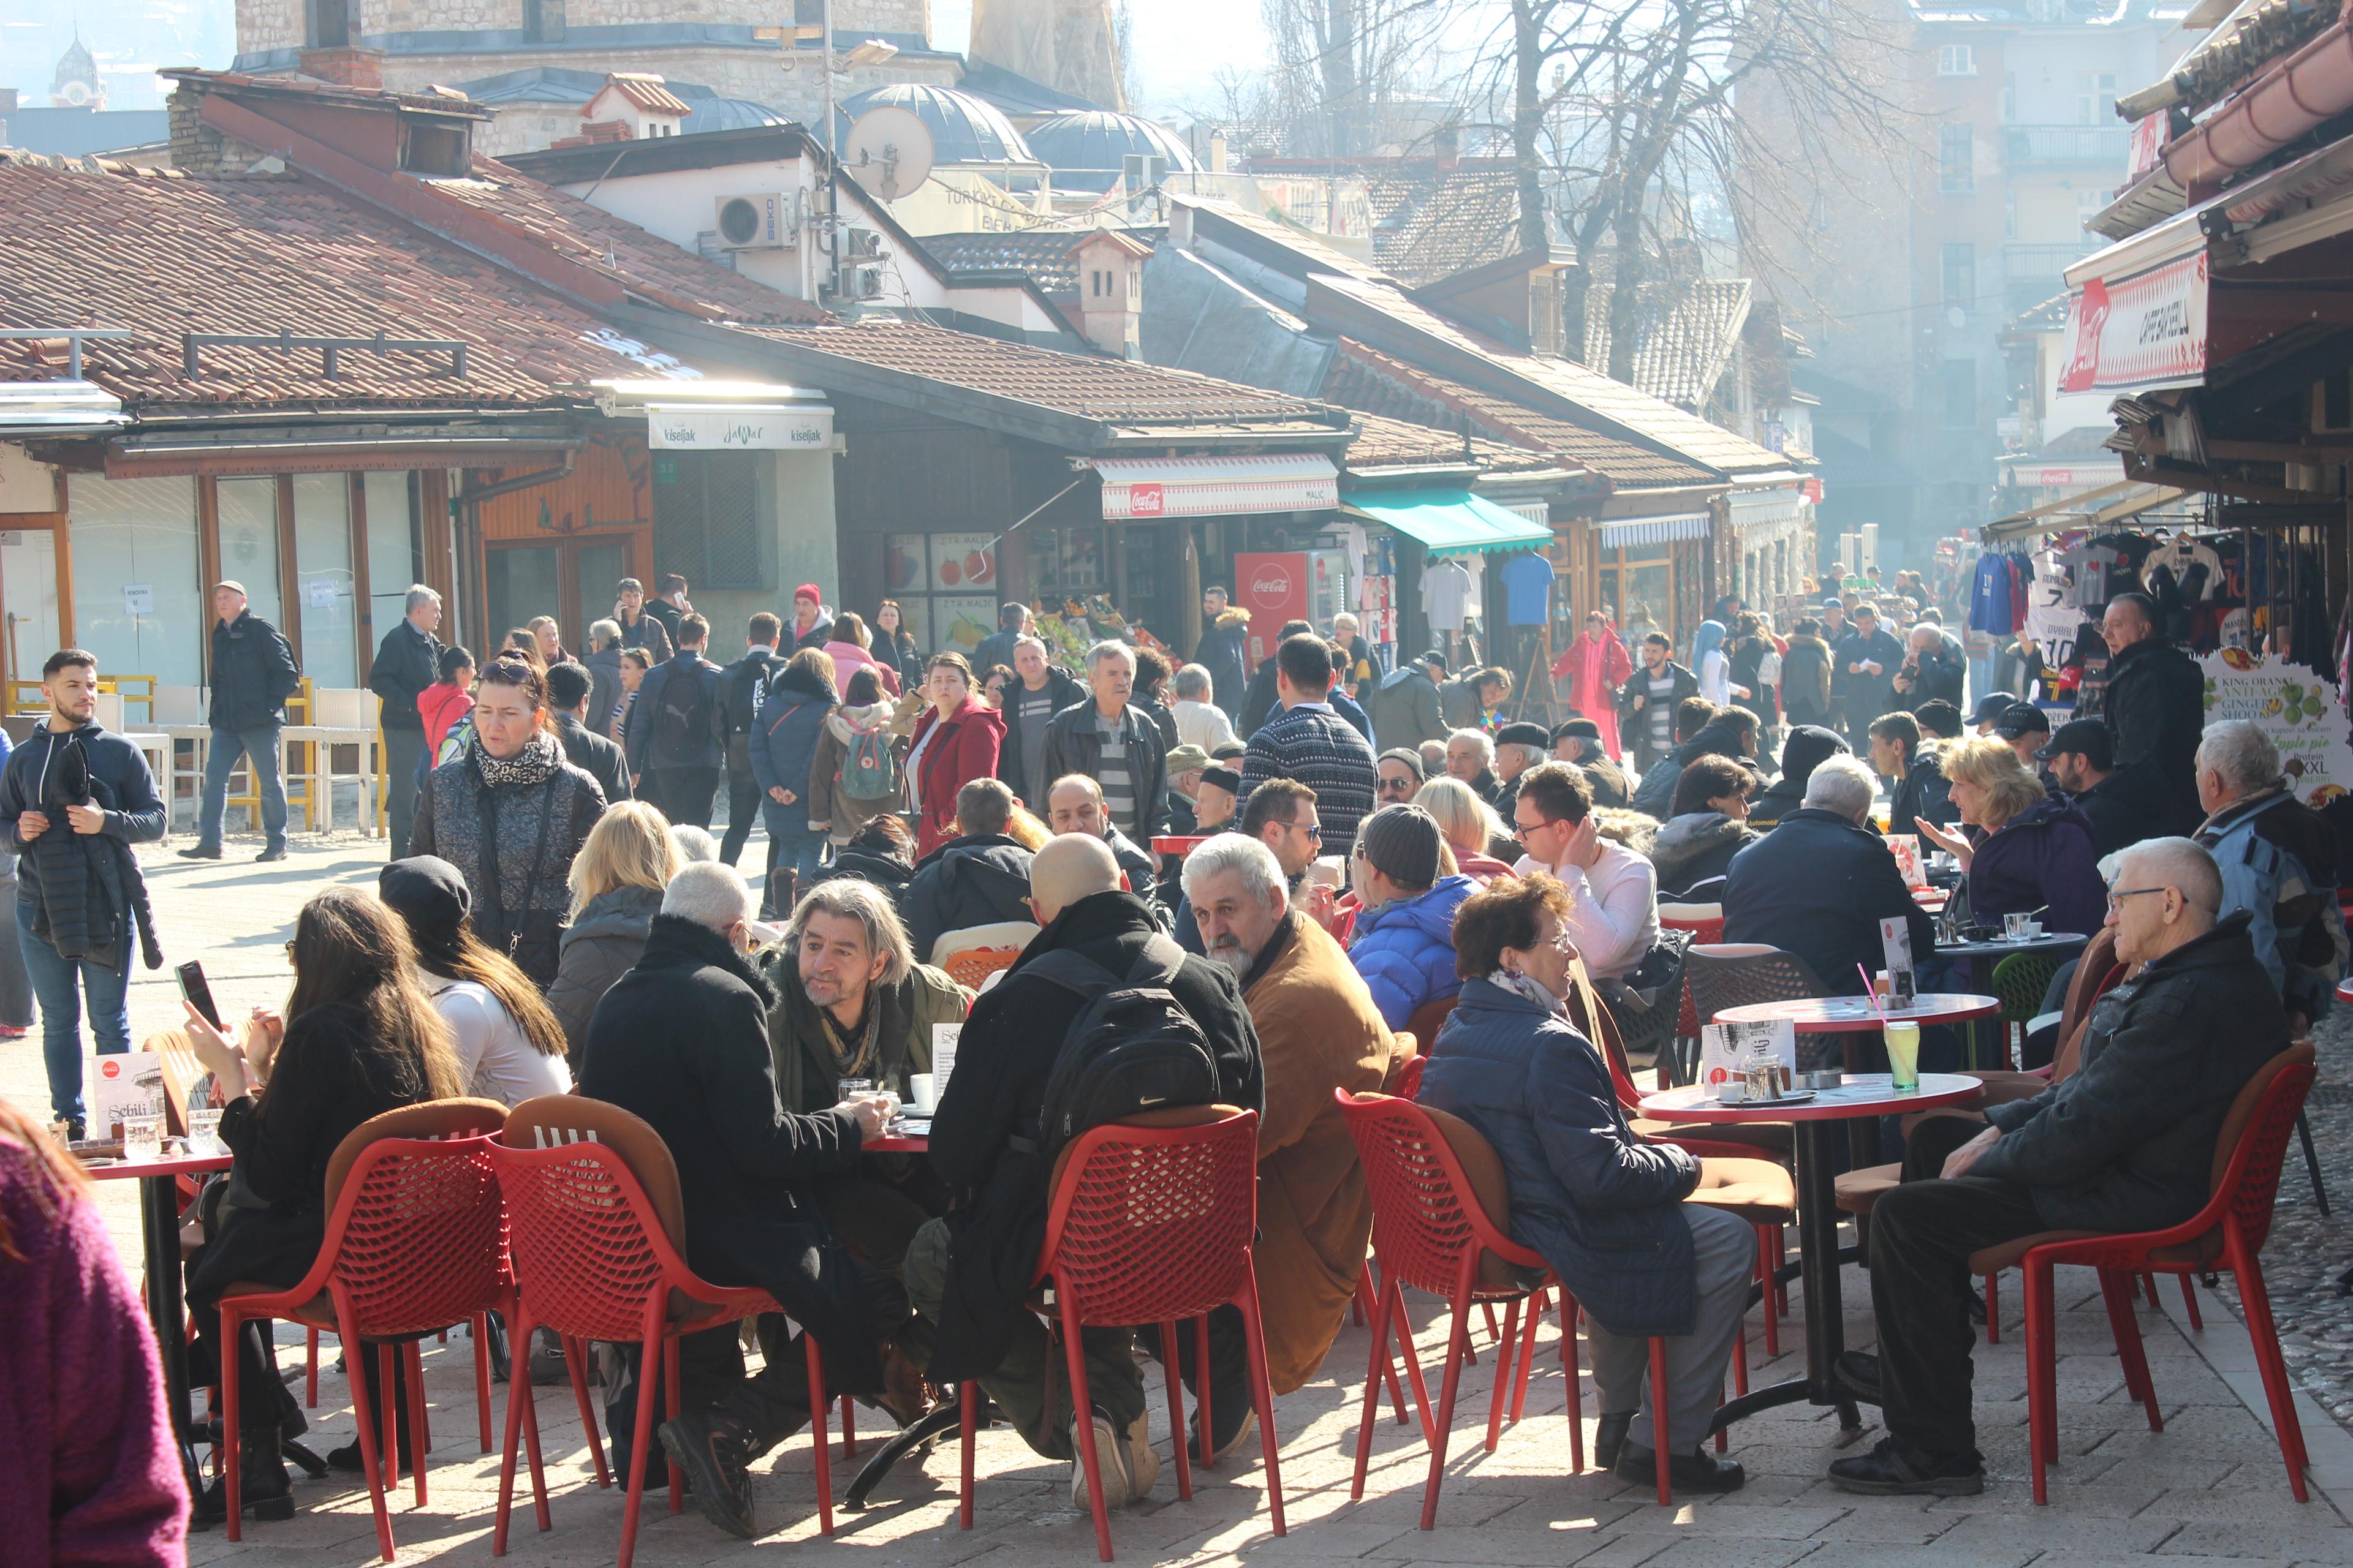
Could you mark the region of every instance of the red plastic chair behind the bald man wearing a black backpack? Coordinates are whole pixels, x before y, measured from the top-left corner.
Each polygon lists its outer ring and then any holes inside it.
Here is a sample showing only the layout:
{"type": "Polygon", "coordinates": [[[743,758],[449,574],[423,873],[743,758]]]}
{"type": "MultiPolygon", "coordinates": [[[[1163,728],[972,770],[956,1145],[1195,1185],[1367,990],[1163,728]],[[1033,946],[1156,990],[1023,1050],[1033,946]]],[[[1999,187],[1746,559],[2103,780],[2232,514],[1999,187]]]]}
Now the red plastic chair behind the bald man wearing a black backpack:
{"type": "MultiPolygon", "coordinates": [[[[1259,1229],[1259,1112],[1184,1107],[1148,1112],[1080,1133],[1056,1161],[1054,1206],[1038,1253],[1038,1284],[1052,1281],[1059,1338],[1071,1371],[1071,1408],[1089,1408],[1080,1328],[1158,1324],[1176,1495],[1193,1497],[1184,1441],[1184,1378],[1176,1375],[1176,1319],[1200,1319],[1200,1429],[1209,1434],[1207,1319],[1238,1307],[1249,1345],[1249,1396],[1259,1410],[1266,1500],[1275,1535],[1282,1523],[1282,1465],[1275,1453],[1275,1399],[1266,1380],[1259,1328],[1259,1272],[1249,1244],[1259,1229]],[[1214,1114],[1214,1121],[1200,1117],[1214,1114]]],[[[962,1392],[962,1481],[958,1521],[972,1528],[972,1439],[981,1408],[974,1382],[962,1392]]],[[[1078,1455],[1094,1505],[1094,1549],[1111,1561],[1111,1512],[1104,1507],[1104,1458],[1094,1425],[1078,1422],[1078,1455]]],[[[1202,1455],[1207,1462],[1207,1455],[1202,1455]]]]}

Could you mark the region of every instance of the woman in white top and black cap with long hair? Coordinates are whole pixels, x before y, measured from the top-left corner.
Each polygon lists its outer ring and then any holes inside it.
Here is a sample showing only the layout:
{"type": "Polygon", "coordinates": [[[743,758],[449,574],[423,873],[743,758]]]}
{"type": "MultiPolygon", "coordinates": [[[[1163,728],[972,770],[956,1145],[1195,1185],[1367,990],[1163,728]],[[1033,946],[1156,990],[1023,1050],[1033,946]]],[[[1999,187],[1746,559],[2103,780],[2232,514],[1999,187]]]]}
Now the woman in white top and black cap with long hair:
{"type": "Polygon", "coordinates": [[[433,1011],[456,1034],[466,1093],[508,1107],[569,1093],[565,1030],[529,976],[475,940],[466,924],[473,896],[459,870],[440,856],[393,860],[376,891],[416,943],[433,1011]]]}

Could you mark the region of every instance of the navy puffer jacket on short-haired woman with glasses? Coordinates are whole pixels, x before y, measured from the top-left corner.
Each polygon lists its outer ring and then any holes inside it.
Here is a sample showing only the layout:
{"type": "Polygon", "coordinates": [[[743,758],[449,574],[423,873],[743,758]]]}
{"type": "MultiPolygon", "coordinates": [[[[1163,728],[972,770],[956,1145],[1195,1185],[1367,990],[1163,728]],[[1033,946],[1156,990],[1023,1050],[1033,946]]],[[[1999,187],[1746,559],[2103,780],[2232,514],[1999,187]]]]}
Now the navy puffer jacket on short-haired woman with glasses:
{"type": "Polygon", "coordinates": [[[1692,1333],[1699,1291],[1682,1197],[1699,1185],[1699,1161],[1633,1135],[1609,1067],[1565,1018],[1489,980],[1466,983],[1417,1098],[1494,1145],[1511,1178],[1511,1239],[1541,1253],[1602,1328],[1692,1333]]]}

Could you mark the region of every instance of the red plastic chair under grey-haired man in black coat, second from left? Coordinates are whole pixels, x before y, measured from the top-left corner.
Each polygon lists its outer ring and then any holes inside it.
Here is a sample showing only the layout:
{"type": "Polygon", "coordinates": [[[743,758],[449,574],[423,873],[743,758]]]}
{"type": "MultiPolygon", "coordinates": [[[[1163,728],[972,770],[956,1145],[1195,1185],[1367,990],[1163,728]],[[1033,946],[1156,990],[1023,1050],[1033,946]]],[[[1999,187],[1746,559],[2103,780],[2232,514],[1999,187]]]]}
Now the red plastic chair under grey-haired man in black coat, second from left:
{"type": "MultiPolygon", "coordinates": [[[[515,1251],[515,1375],[506,1396],[506,1448],[499,1460],[499,1523],[492,1556],[506,1554],[506,1523],[515,1495],[515,1434],[527,1434],[532,1507],[548,1530],[548,1486],[539,1462],[539,1410],[520,1347],[532,1328],[565,1335],[572,1394],[579,1399],[605,1483],[605,1453],[588,1410],[584,1340],[638,1345],[638,1427],[628,1453],[628,1500],[621,1509],[621,1568],[638,1549],[645,1502],[645,1458],[654,1441],[649,1366],[661,1347],[666,1418],[678,1418],[678,1340],[704,1328],[727,1328],[762,1312],[784,1312],[767,1291],[713,1286],[687,1267],[685,1201],[668,1145],[640,1117],[581,1095],[541,1095],[506,1112],[506,1128],[489,1145],[489,1164],[506,1194],[515,1251]]],[[[826,1371],[816,1335],[802,1333],[809,1356],[814,1418],[816,1521],[833,1535],[833,1467],[826,1443],[826,1371]]],[[[671,1512],[685,1509],[685,1476],[668,1465],[671,1512]]]]}

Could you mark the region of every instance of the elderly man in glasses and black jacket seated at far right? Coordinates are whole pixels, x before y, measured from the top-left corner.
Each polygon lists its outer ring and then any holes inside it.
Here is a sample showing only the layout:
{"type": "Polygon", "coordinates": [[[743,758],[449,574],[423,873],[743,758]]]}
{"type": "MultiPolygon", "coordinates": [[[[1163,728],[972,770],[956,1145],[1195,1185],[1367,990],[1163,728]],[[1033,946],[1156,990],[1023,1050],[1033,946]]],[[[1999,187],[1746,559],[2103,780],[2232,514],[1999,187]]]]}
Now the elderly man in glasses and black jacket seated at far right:
{"type": "Polygon", "coordinates": [[[2287,1048],[2287,1013],[2247,914],[2217,919],[2214,856],[2188,839],[2146,839],[2113,867],[2115,957],[2144,969],[2092,1011],[2082,1065],[2031,1100],[1991,1107],[1991,1126],[1960,1147],[1915,1133],[1904,1185],[1871,1211],[1880,1354],[1847,1354],[1840,1373],[1878,1401],[1887,1439],[1831,1465],[1840,1490],[1984,1490],[1969,1410],[1969,1253],[2045,1229],[2188,1220],[2207,1201],[2231,1100],[2287,1048]]]}

